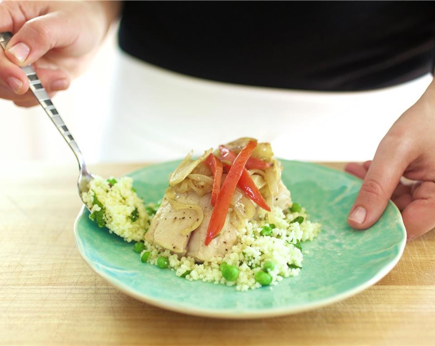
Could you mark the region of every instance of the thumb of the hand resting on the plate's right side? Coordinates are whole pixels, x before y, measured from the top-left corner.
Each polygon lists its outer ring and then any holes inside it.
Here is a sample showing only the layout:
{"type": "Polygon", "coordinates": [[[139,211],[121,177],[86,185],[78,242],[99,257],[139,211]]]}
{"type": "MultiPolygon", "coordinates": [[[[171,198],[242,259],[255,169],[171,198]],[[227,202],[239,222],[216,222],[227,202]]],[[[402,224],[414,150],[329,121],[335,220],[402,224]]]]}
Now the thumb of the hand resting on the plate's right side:
{"type": "Polygon", "coordinates": [[[348,224],[352,228],[365,229],[378,221],[408,166],[404,145],[387,136],[379,144],[351,208],[348,224]]]}

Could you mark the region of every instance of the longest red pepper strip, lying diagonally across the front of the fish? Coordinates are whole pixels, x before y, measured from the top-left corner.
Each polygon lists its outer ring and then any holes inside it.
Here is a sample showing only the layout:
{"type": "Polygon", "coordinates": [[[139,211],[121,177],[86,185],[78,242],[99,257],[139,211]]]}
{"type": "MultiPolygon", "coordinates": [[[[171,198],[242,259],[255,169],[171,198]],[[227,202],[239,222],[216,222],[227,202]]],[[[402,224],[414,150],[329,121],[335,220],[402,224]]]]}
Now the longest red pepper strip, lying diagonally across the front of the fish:
{"type": "Polygon", "coordinates": [[[233,165],[228,171],[228,175],[224,180],[219,191],[218,199],[214,205],[213,212],[211,213],[210,222],[207,228],[207,235],[205,237],[205,245],[210,244],[211,240],[216,237],[225,224],[225,218],[227,217],[228,209],[230,208],[231,198],[234,195],[237,182],[239,181],[243,168],[251,156],[257,141],[249,141],[246,147],[244,147],[234,160],[233,165]]]}

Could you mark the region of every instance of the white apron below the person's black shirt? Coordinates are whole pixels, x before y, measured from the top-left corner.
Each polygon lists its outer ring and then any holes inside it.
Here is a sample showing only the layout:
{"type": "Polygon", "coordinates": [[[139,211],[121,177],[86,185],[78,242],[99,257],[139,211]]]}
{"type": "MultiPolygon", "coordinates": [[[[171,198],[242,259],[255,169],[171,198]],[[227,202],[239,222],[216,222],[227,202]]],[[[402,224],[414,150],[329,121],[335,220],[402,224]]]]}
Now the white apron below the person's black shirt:
{"type": "Polygon", "coordinates": [[[207,81],[117,54],[99,161],[183,158],[239,137],[279,158],[365,161],[421,96],[429,75],[364,92],[311,92],[207,81]]]}

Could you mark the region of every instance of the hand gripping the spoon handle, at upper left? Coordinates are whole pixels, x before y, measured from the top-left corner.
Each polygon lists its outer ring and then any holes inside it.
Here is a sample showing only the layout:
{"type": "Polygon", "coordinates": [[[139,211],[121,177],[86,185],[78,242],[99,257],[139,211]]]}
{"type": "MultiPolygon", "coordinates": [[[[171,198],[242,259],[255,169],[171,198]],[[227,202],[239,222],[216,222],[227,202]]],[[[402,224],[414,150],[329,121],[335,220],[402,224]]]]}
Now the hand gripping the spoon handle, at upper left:
{"type": "Polygon", "coordinates": [[[0,32],[14,36],[0,49],[0,98],[23,107],[37,104],[18,66],[33,64],[48,94],[69,87],[97,50],[119,3],[64,1],[0,2],[0,32]]]}

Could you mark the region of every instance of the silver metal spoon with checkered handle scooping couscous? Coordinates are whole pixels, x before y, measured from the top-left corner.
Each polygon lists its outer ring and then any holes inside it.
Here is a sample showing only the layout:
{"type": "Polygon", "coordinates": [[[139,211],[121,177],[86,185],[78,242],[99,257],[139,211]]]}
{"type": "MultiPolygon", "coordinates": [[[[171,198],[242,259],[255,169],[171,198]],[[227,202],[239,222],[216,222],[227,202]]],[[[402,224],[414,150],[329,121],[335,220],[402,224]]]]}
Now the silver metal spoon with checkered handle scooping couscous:
{"type": "MultiPolygon", "coordinates": [[[[11,38],[12,33],[10,32],[0,33],[0,45],[3,47],[3,49],[6,49],[6,45],[11,38]]],[[[76,141],[70,134],[67,125],[65,125],[64,121],[60,117],[60,114],[57,111],[56,107],[54,107],[53,102],[51,101],[44,87],[42,86],[41,81],[37,77],[35,70],[33,70],[33,67],[29,65],[26,67],[21,67],[21,70],[23,70],[27,78],[29,78],[30,90],[32,91],[33,95],[35,95],[36,99],[43,107],[44,111],[47,113],[51,121],[53,121],[54,126],[56,126],[57,130],[59,130],[60,134],[62,134],[65,141],[70,146],[71,150],[77,158],[80,170],[80,175],[77,180],[77,187],[79,190],[80,199],[82,199],[83,202],[82,193],[88,191],[88,184],[91,180],[95,178],[95,175],[86,170],[83,155],[76,141]]],[[[86,203],[84,203],[84,205],[86,205],[86,203]]]]}

